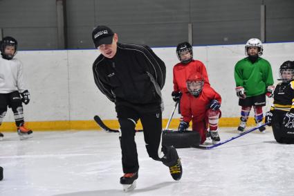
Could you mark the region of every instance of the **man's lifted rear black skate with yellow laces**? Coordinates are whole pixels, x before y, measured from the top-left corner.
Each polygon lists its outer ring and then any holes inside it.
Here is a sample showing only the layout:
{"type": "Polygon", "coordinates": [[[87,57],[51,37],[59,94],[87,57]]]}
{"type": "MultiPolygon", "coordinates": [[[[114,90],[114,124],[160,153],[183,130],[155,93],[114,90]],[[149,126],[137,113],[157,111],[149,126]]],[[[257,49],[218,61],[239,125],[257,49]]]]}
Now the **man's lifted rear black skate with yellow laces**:
{"type": "Polygon", "coordinates": [[[169,173],[174,180],[180,180],[183,174],[183,168],[176,148],[174,146],[165,146],[163,152],[165,153],[165,156],[162,158],[163,164],[169,167],[169,173]]]}

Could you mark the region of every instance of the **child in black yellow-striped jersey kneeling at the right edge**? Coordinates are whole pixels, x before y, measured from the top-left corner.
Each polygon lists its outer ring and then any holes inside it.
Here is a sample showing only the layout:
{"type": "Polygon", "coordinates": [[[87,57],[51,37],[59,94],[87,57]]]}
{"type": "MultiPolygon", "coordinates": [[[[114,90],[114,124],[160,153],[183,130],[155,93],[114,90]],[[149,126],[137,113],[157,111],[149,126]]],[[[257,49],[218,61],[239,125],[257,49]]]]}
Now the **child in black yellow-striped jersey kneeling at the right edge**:
{"type": "Polygon", "coordinates": [[[278,143],[294,143],[294,61],[279,67],[279,82],[274,91],[274,102],[266,113],[266,123],[273,127],[278,143]]]}

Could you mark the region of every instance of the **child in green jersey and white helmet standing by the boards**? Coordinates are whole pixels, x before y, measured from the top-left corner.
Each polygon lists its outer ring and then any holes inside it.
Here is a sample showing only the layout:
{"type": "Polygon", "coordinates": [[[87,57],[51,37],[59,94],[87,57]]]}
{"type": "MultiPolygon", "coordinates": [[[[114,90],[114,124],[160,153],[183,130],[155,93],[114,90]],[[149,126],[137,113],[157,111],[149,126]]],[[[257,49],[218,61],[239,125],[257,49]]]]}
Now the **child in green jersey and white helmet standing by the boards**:
{"type": "MultiPolygon", "coordinates": [[[[255,112],[255,122],[261,125],[264,118],[262,107],[266,105],[266,96],[273,96],[273,72],[270,63],[261,58],[263,53],[262,43],[257,38],[249,39],[245,46],[247,57],[239,60],[235,65],[236,93],[241,106],[241,122],[237,130],[241,133],[246,127],[246,122],[251,108],[255,112]]],[[[264,132],[266,128],[260,127],[264,132]]]]}

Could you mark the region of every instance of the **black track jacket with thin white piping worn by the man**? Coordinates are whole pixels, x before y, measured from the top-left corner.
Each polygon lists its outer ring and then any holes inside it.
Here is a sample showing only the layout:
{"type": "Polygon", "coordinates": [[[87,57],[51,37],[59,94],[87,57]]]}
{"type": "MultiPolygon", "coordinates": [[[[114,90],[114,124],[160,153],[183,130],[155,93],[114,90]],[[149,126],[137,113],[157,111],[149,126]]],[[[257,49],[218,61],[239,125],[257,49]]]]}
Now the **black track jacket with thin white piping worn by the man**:
{"type": "Polygon", "coordinates": [[[93,63],[95,84],[109,100],[120,104],[160,105],[165,63],[145,45],[118,43],[116,55],[102,54],[93,63]]]}

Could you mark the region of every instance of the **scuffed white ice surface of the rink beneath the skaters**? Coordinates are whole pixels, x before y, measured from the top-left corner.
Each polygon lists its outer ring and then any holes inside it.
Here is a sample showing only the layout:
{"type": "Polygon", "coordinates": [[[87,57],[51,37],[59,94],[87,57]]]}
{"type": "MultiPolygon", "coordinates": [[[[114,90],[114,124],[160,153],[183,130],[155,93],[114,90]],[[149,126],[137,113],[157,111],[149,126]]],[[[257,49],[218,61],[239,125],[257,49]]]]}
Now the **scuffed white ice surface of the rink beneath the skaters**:
{"type": "MultiPolygon", "coordinates": [[[[122,191],[118,134],[102,131],[34,132],[19,141],[4,133],[0,195],[294,195],[294,145],[275,142],[273,132],[250,132],[211,150],[178,149],[181,181],[150,159],[143,133],[136,134],[140,163],[137,188],[122,191]]],[[[235,136],[222,127],[221,140],[235,136]]]]}

